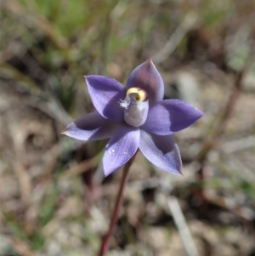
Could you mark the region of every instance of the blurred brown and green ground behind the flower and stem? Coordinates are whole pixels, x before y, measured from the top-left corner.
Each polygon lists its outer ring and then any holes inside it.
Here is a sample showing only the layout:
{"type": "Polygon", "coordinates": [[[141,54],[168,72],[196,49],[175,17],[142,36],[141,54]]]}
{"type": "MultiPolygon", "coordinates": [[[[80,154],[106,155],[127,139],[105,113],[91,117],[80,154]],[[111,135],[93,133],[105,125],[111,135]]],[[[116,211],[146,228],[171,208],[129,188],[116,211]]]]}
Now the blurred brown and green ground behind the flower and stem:
{"type": "Polygon", "coordinates": [[[107,255],[254,256],[254,49],[252,0],[0,0],[0,256],[97,255],[122,171],[60,131],[93,110],[84,75],[149,57],[205,117],[174,135],[184,177],[137,155],[107,255]]]}

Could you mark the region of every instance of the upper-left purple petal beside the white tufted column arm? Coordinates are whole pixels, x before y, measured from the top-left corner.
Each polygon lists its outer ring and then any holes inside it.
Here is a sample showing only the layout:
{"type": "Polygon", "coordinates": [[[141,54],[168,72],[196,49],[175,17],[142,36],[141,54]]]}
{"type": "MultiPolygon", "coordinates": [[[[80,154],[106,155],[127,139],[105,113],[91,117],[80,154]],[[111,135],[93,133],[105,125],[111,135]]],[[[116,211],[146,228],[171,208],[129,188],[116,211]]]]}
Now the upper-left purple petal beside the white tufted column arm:
{"type": "Polygon", "coordinates": [[[85,79],[88,93],[99,114],[111,121],[122,122],[124,113],[119,100],[125,99],[126,88],[110,77],[93,75],[86,76],[85,79]]]}

